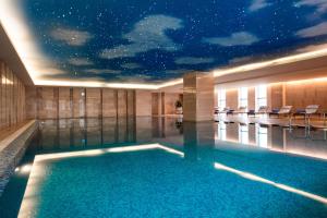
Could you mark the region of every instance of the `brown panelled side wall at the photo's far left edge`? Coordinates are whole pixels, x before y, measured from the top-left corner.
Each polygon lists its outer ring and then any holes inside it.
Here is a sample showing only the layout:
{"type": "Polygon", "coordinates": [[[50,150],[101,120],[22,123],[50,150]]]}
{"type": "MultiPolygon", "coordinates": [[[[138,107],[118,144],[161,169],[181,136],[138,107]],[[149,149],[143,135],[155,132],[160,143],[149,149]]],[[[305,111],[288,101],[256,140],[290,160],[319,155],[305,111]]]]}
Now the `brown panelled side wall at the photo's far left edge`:
{"type": "Polygon", "coordinates": [[[0,129],[25,120],[25,86],[19,77],[0,61],[0,129]]]}

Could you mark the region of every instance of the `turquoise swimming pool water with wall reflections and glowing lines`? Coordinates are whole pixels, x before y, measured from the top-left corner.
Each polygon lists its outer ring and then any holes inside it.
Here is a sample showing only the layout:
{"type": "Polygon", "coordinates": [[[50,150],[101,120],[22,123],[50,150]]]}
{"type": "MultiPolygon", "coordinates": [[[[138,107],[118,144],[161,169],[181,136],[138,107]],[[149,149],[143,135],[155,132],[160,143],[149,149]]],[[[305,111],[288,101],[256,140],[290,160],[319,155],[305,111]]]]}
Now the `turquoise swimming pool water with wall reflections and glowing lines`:
{"type": "Polygon", "coordinates": [[[82,126],[40,126],[0,198],[1,218],[327,216],[324,132],[249,126],[246,137],[235,123],[223,132],[174,119],[82,126]]]}

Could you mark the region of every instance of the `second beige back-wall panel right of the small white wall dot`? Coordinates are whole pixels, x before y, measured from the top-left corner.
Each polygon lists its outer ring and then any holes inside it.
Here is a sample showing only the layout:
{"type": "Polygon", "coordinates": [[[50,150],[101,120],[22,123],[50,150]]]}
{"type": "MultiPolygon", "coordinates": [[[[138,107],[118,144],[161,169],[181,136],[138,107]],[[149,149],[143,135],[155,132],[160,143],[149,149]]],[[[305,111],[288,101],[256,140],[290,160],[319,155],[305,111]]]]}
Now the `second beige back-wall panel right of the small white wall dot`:
{"type": "Polygon", "coordinates": [[[102,116],[104,118],[117,117],[117,89],[102,89],[102,116]]]}

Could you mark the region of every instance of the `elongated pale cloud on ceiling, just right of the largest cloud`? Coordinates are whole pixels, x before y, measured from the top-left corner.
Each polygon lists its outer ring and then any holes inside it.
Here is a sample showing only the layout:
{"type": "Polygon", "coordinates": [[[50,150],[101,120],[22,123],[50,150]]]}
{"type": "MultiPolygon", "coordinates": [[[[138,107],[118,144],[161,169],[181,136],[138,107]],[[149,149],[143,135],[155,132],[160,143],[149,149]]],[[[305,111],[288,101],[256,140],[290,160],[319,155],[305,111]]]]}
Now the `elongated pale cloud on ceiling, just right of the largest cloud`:
{"type": "Polygon", "coordinates": [[[233,33],[229,37],[203,38],[203,43],[211,44],[211,45],[219,45],[219,46],[223,46],[223,47],[250,46],[257,41],[259,41],[259,38],[247,32],[233,33]]]}

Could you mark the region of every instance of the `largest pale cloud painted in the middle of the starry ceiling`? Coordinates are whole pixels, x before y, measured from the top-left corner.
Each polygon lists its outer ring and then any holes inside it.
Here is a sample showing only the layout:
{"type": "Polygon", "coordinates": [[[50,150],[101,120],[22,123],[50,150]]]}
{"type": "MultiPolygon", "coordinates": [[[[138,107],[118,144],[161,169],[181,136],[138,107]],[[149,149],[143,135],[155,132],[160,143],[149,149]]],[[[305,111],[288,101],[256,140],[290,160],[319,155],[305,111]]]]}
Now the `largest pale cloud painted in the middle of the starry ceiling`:
{"type": "Polygon", "coordinates": [[[166,31],[177,31],[182,28],[182,21],[166,15],[150,15],[134,25],[132,32],[123,35],[123,39],[129,40],[129,45],[120,45],[114,48],[105,49],[100,58],[114,59],[135,57],[137,53],[154,49],[175,51],[180,46],[173,43],[166,31]]]}

